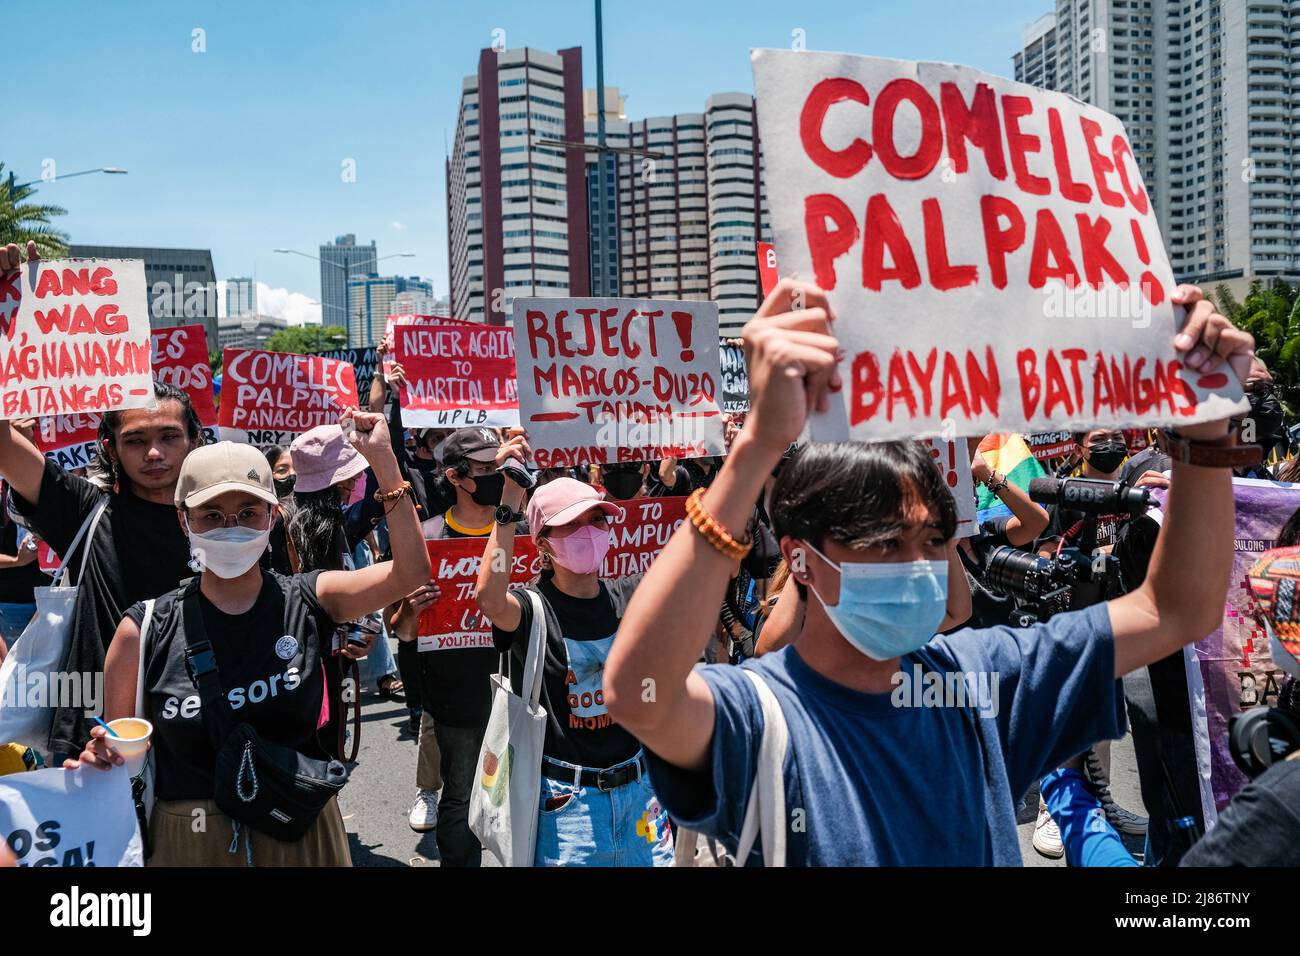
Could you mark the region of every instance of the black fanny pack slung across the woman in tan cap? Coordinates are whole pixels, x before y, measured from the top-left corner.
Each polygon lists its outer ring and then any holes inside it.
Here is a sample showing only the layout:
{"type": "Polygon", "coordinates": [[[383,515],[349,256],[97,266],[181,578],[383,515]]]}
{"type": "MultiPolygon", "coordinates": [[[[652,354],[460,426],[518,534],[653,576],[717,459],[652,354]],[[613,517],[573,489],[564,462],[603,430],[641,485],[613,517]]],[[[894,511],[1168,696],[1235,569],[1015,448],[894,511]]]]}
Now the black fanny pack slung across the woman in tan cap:
{"type": "Polygon", "coordinates": [[[265,740],[248,723],[237,722],[203,626],[196,579],[182,585],[178,600],[183,609],[185,666],[199,688],[199,714],[217,752],[217,808],[277,840],[302,839],[330,797],[343,790],[347,767],[265,740]]]}

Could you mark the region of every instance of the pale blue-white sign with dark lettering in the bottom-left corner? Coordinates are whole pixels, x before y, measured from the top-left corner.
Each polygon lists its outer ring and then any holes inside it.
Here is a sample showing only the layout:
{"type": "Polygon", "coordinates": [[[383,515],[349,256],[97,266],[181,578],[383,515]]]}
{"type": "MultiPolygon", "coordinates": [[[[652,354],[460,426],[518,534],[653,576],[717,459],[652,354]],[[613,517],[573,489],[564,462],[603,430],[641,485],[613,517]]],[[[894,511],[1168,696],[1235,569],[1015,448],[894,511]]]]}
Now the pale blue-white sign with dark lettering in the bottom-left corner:
{"type": "Polygon", "coordinates": [[[0,842],[20,866],[143,866],[126,767],[0,777],[0,842]]]}

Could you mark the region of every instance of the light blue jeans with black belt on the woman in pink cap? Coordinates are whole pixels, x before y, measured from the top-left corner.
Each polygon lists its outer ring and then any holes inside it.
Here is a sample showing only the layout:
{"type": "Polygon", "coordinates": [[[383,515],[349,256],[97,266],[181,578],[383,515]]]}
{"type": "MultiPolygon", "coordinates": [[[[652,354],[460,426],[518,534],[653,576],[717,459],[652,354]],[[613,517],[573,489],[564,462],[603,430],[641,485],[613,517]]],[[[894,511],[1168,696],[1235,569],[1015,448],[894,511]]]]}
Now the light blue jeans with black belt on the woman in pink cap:
{"type": "Polygon", "coordinates": [[[672,825],[649,774],[603,793],[543,777],[538,814],[537,866],[672,866],[672,825]]]}

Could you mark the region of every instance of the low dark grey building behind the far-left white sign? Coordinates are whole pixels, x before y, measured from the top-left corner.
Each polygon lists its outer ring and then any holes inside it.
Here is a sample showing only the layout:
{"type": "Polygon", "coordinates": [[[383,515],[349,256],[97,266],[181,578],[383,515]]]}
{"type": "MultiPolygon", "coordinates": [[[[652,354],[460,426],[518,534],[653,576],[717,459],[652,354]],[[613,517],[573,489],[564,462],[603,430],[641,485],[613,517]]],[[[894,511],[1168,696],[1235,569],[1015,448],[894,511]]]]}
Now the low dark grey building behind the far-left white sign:
{"type": "Polygon", "coordinates": [[[217,347],[217,273],[212,268],[211,250],[78,243],[69,247],[68,255],[77,259],[143,259],[150,328],[203,325],[208,347],[217,347]]]}

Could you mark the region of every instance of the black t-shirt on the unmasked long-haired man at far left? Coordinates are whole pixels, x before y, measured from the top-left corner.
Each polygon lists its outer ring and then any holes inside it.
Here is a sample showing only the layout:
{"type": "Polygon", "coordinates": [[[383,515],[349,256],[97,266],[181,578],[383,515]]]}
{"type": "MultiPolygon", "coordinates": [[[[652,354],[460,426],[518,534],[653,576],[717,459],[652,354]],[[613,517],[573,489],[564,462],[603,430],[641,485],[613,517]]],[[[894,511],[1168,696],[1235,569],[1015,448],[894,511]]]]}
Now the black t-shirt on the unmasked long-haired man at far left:
{"type": "MultiPolygon", "coordinates": [[[[17,492],[13,503],[31,529],[49,542],[56,554],[66,558],[82,522],[105,494],[47,459],[40,480],[40,506],[17,492]]],[[[177,520],[176,507],[146,501],[131,492],[108,494],[108,509],[90,545],[91,561],[82,574],[84,548],[83,541],[69,563],[81,581],[81,593],[72,650],[62,670],[95,674],[104,670],[104,652],[126,609],[174,589],[194,571],[190,570],[190,542],[177,520]]],[[[57,709],[49,749],[79,752],[92,726],[82,708],[57,709]]]]}

